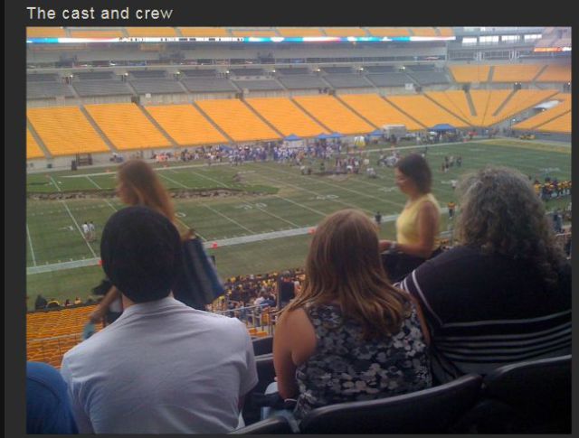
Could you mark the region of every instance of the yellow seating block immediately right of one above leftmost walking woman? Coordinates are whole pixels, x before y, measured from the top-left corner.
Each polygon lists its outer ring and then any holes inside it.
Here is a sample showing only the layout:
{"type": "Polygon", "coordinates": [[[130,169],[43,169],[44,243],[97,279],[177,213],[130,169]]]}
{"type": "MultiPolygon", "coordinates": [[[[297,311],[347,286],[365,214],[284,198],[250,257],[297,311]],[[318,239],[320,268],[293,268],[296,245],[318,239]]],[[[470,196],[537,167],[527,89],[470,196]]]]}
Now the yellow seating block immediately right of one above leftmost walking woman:
{"type": "Polygon", "coordinates": [[[164,105],[145,109],[181,146],[229,142],[192,105],[164,105]]]}

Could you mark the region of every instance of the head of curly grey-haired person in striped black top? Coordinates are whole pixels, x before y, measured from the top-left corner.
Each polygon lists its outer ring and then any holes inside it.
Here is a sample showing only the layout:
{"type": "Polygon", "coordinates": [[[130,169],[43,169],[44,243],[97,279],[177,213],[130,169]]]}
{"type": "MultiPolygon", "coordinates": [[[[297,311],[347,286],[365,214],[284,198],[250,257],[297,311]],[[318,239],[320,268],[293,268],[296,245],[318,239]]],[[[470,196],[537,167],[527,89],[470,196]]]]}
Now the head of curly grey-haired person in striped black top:
{"type": "Polygon", "coordinates": [[[562,248],[546,217],[545,205],[521,172],[487,167],[462,177],[457,237],[487,254],[528,260],[547,286],[557,283],[562,248]]]}

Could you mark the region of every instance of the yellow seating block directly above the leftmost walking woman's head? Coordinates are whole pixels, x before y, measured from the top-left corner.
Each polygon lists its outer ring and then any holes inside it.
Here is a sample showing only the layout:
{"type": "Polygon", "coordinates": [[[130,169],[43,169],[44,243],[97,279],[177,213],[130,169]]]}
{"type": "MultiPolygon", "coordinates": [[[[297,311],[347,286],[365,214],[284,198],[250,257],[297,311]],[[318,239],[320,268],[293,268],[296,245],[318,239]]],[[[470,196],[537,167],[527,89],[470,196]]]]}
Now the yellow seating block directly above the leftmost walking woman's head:
{"type": "Polygon", "coordinates": [[[171,145],[135,104],[85,107],[102,132],[121,151],[171,145]]]}

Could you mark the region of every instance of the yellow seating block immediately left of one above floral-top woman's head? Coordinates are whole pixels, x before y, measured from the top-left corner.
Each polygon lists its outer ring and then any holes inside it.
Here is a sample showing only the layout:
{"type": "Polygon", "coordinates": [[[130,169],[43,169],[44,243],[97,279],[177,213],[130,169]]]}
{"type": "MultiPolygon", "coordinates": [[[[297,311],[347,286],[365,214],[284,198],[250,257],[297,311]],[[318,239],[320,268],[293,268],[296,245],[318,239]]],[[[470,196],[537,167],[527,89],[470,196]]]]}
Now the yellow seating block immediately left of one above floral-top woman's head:
{"type": "Polygon", "coordinates": [[[324,132],[322,126],[319,126],[289,98],[247,98],[245,101],[284,136],[295,134],[309,137],[324,132]]]}

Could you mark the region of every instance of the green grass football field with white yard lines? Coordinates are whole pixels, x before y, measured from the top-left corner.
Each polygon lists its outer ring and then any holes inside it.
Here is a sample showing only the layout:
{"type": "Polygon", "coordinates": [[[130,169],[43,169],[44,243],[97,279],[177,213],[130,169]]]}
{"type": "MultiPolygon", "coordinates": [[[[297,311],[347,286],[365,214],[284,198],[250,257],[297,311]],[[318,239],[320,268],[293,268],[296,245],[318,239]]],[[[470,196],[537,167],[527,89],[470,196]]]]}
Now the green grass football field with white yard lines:
{"type": "MultiPolygon", "coordinates": [[[[394,218],[403,209],[404,196],[394,184],[394,170],[377,167],[380,151],[367,149],[377,179],[365,173],[347,176],[301,175],[299,167],[279,163],[245,163],[207,166],[204,163],[171,163],[159,167],[158,174],[172,191],[200,190],[204,196],[176,198],[176,214],[187,227],[195,228],[216,257],[222,277],[258,274],[303,266],[308,251],[309,228],[315,227],[327,214],[355,208],[374,217],[379,210],[385,221],[381,235],[394,238],[394,218]],[[241,181],[233,182],[235,174],[241,181]],[[223,189],[221,195],[211,195],[223,189]],[[296,236],[276,237],[268,234],[301,230],[296,236]],[[244,238],[245,243],[231,239],[244,238]]],[[[418,147],[419,152],[423,146],[418,147]]],[[[400,148],[401,154],[413,149],[400,148]]],[[[433,192],[445,207],[455,199],[451,180],[460,174],[486,164],[507,165],[540,180],[546,175],[560,180],[571,178],[571,147],[509,139],[466,144],[431,145],[427,159],[433,172],[433,192]],[[460,168],[441,172],[445,155],[461,155],[460,168]]],[[[333,165],[333,160],[331,162],[333,165]]],[[[318,170],[318,163],[313,166],[318,170]]],[[[81,224],[92,220],[97,235],[109,216],[123,208],[114,196],[115,167],[82,169],[78,172],[35,173],[27,177],[27,286],[33,306],[36,294],[64,301],[80,296],[103,276],[99,258],[100,240],[88,243],[82,238],[81,224]],[[39,199],[62,192],[68,196],[83,192],[84,198],[39,199]],[[81,266],[82,264],[88,266],[81,266]],[[70,267],[70,266],[81,267],[70,267]],[[47,270],[48,272],[37,271],[47,270]]],[[[551,200],[547,209],[565,206],[570,199],[551,200]]],[[[448,228],[444,215],[441,229],[448,228]]],[[[283,234],[283,233],[281,233],[283,234]]]]}

